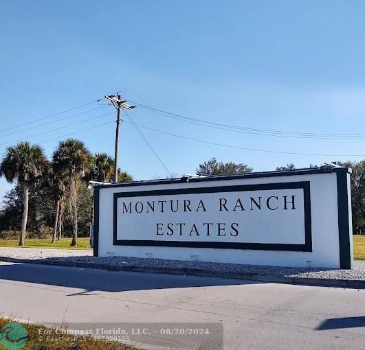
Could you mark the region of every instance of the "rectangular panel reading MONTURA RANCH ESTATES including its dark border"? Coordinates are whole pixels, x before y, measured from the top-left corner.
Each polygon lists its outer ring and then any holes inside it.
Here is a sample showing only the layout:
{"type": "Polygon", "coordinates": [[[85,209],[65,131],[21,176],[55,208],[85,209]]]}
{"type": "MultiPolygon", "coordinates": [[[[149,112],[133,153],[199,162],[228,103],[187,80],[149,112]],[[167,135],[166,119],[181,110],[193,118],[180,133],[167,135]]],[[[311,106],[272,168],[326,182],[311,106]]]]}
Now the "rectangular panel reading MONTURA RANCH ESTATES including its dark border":
{"type": "Polygon", "coordinates": [[[113,208],[115,244],[311,251],[309,182],[122,192],[113,208]]]}

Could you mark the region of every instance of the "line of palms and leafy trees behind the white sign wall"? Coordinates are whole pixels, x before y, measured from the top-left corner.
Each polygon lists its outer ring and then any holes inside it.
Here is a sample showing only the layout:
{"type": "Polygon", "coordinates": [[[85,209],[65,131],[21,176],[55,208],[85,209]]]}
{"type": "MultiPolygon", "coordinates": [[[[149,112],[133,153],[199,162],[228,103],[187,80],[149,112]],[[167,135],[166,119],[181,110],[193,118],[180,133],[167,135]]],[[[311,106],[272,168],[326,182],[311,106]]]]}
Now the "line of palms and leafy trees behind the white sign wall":
{"type": "MultiPolygon", "coordinates": [[[[353,169],[353,232],[364,233],[365,160],[340,164],[353,169]]],[[[293,163],[276,167],[276,171],[294,169],[293,163]]],[[[51,236],[52,242],[63,235],[71,236],[71,245],[77,245],[79,233],[84,237],[89,235],[89,225],[93,222],[93,194],[87,183],[112,182],[113,171],[111,156],[91,154],[78,139],[60,141],[50,160],[39,145],[21,142],[8,147],[0,164],[0,176],[10,183],[15,181],[16,186],[5,195],[5,207],[0,211],[0,238],[10,230],[20,231],[19,245],[23,245],[28,231],[39,237],[51,236]]],[[[243,163],[224,163],[216,158],[204,161],[196,169],[201,175],[252,171],[252,167],[243,163]]],[[[131,174],[118,170],[118,181],[131,180],[131,174]]]]}

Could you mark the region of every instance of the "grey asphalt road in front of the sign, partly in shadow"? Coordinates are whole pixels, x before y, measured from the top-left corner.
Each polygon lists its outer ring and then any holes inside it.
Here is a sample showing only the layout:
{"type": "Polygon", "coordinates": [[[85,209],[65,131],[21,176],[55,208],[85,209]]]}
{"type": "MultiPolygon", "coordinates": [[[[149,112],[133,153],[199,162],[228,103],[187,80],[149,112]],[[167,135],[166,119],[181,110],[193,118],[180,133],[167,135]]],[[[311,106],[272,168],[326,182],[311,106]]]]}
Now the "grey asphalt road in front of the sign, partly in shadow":
{"type": "MultiPolygon", "coordinates": [[[[365,349],[365,290],[1,262],[0,314],[67,325],[223,323],[225,349],[365,349]]],[[[171,346],[168,338],[145,336],[142,347],[171,346]]]]}

